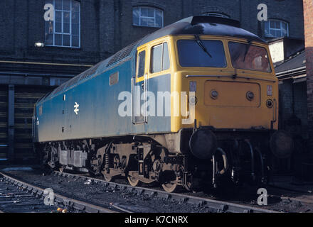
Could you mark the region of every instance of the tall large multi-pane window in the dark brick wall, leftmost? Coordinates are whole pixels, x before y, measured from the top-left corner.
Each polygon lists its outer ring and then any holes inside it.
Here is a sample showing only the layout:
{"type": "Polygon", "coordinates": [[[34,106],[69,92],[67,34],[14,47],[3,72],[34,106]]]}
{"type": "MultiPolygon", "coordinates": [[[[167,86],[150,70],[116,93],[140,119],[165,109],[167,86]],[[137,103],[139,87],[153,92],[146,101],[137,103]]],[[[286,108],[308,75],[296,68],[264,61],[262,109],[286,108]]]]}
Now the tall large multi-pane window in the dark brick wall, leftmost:
{"type": "Polygon", "coordinates": [[[80,47],[80,2],[75,0],[46,0],[54,6],[54,21],[45,21],[46,45],[80,47]]]}

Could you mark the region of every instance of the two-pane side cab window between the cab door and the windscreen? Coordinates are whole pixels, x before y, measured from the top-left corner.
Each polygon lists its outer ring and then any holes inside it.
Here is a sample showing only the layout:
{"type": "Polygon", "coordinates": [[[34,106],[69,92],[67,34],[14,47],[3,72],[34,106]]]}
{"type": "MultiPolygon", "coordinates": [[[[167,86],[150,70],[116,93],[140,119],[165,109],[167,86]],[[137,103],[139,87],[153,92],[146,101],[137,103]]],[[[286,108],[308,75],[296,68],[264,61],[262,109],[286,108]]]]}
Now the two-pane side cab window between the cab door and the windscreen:
{"type": "Polygon", "coordinates": [[[167,43],[156,45],[151,50],[151,73],[169,69],[169,46],[167,43]]]}

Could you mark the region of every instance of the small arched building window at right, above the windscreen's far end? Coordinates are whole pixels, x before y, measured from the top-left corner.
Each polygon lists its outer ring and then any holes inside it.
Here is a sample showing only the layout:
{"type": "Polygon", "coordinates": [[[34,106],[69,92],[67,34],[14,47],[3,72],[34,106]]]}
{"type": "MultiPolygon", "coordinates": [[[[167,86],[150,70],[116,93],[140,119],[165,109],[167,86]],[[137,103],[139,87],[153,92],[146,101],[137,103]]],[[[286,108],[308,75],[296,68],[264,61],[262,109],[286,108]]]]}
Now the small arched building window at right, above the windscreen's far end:
{"type": "Polygon", "coordinates": [[[268,20],[265,21],[265,36],[284,37],[289,36],[289,25],[285,21],[268,20]]]}

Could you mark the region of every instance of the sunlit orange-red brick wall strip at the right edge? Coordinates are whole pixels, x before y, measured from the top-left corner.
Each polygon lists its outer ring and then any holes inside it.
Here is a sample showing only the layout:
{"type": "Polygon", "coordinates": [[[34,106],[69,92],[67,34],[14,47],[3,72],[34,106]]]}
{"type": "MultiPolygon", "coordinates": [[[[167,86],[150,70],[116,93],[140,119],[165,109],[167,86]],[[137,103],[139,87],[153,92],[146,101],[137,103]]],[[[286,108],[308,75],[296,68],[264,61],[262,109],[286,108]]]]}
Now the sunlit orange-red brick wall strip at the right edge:
{"type": "Polygon", "coordinates": [[[313,148],[313,1],[303,0],[303,8],[305,52],[307,58],[307,111],[310,145],[313,148]]]}

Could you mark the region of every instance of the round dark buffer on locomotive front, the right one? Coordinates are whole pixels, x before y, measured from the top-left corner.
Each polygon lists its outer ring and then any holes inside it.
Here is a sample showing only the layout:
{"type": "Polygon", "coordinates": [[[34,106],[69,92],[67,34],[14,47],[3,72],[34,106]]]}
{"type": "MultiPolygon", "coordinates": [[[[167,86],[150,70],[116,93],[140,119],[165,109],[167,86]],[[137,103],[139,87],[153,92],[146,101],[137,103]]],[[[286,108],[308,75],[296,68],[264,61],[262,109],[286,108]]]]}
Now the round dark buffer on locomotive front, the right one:
{"type": "Polygon", "coordinates": [[[270,138],[270,150],[278,158],[287,158],[292,154],[295,143],[292,136],[286,131],[276,131],[270,138]]]}

